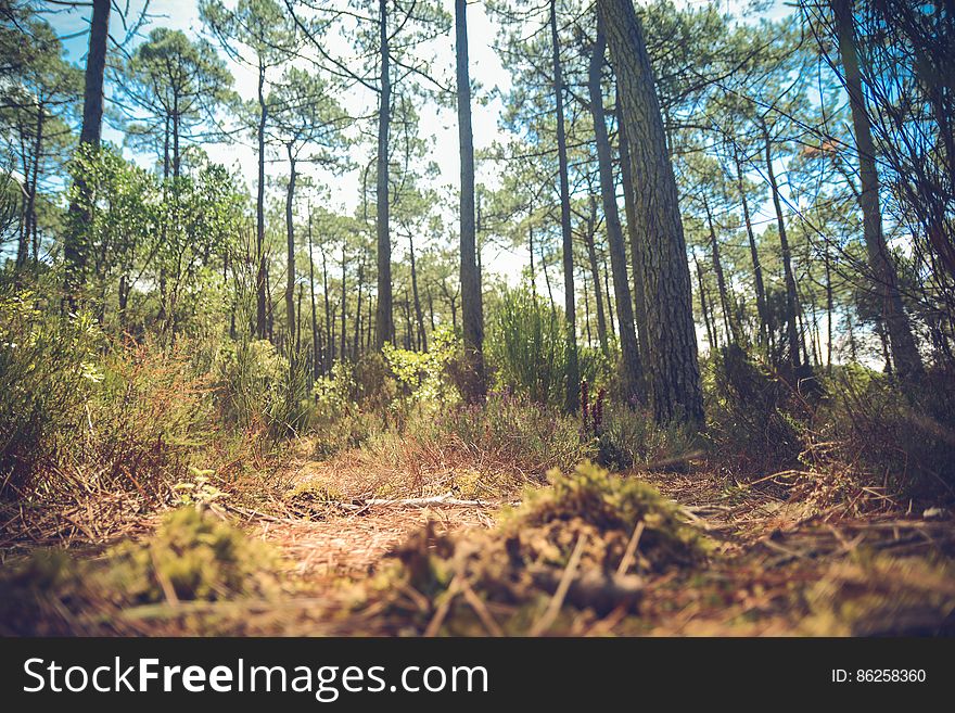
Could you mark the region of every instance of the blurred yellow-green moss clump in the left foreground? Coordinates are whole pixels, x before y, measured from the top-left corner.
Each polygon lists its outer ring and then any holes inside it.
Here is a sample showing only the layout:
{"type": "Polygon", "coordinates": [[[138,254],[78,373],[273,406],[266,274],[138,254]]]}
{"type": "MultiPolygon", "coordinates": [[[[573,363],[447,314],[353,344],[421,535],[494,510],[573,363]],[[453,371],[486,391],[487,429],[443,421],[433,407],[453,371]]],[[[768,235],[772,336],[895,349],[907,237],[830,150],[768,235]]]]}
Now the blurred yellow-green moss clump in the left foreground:
{"type": "Polygon", "coordinates": [[[137,603],[268,596],[276,558],[263,543],[196,508],[180,508],[142,543],[110,553],[110,589],[137,603]]]}

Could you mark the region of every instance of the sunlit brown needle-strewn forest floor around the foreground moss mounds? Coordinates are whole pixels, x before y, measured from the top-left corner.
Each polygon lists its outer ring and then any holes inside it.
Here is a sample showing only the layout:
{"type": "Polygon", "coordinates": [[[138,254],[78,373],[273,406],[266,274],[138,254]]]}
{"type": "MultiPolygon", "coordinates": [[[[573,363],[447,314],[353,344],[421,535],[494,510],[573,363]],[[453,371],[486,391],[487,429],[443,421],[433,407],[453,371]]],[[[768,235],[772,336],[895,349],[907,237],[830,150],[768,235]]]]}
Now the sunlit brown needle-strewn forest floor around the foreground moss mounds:
{"type": "MultiPolygon", "coordinates": [[[[37,622],[30,631],[104,633],[101,624],[109,619],[105,633],[115,634],[442,633],[435,620],[446,615],[446,608],[438,613],[443,608],[435,606],[437,599],[429,600],[384,574],[395,561],[395,550],[416,533],[426,532],[424,547],[433,549],[445,536],[461,540],[493,531],[501,506],[517,505],[520,495],[493,501],[440,494],[431,499],[372,500],[362,497],[370,492],[370,478],[360,461],[347,457],[329,462],[296,457],[281,474],[280,506],[240,506],[239,500],[214,506],[220,517],[278,552],[278,595],[188,602],[173,595],[160,603],[118,609],[88,599],[77,609],[58,599],[55,607],[39,608],[37,616],[49,621],[37,622]],[[316,499],[316,493],[335,496],[316,499]],[[402,608],[395,608],[395,597],[417,608],[418,615],[396,615],[402,608]]],[[[955,519],[948,511],[911,511],[877,491],[858,495],[877,507],[860,508],[844,500],[825,507],[830,500],[820,497],[818,488],[790,487],[785,475],[737,484],[704,461],[682,472],[632,472],[622,478],[650,483],[678,504],[684,522],[703,534],[711,549],[692,565],[644,577],[636,610],[573,610],[555,626],[531,626],[534,633],[955,633],[955,519]]],[[[156,515],[139,520],[133,538],[144,538],[158,521],[156,515]]],[[[24,551],[8,549],[4,563],[15,562],[24,551]]],[[[94,560],[102,551],[80,547],[76,557],[94,560]]],[[[473,633],[500,634],[495,624],[500,609],[485,607],[470,588],[466,595],[483,623],[473,633]]]]}

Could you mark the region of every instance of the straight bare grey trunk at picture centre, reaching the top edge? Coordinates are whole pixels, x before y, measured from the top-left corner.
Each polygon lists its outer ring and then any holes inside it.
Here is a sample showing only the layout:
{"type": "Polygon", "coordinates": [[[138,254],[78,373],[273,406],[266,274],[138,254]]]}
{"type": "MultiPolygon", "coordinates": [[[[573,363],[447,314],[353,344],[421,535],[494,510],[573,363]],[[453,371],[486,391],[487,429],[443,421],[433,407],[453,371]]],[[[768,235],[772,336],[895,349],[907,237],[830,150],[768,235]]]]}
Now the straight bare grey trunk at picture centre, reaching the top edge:
{"type": "MultiPolygon", "coordinates": [[[[468,67],[468,2],[455,0],[455,47],[457,51],[458,143],[461,156],[461,321],[464,327],[464,349],[469,356],[473,382],[466,396],[471,400],[484,397],[484,308],[481,273],[478,267],[478,227],[474,218],[474,136],[471,128],[471,75],[468,67]]],[[[415,308],[421,322],[418,291],[415,308]]],[[[423,333],[423,328],[422,328],[423,333]]],[[[426,347],[425,347],[426,348],[426,347]]]]}

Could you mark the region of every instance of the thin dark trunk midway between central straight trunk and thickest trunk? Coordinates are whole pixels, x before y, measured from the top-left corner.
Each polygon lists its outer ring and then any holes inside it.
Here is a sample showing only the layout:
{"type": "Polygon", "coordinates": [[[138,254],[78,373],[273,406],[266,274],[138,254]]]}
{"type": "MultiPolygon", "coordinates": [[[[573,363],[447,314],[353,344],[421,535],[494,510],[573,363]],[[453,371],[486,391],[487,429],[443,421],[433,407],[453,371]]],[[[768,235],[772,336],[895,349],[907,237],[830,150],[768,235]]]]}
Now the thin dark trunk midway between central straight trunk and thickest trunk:
{"type": "Polygon", "coordinates": [[[576,412],[581,404],[581,371],[577,364],[576,305],[574,303],[574,239],[571,232],[571,189],[568,178],[566,132],[563,123],[563,67],[557,36],[557,0],[550,0],[550,42],[553,59],[553,94],[557,102],[557,155],[560,168],[560,229],[563,235],[563,292],[566,320],[566,395],[564,408],[576,412]]]}

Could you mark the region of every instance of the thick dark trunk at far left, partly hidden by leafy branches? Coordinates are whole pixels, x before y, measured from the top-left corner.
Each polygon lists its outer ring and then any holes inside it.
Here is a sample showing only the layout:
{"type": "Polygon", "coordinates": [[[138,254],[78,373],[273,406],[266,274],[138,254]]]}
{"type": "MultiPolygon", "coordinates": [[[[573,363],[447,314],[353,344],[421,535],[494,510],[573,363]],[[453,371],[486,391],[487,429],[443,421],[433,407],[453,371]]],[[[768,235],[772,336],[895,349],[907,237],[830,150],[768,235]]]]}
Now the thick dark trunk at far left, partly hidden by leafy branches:
{"type": "MultiPolygon", "coordinates": [[[[90,20],[90,41],[86,60],[82,94],[82,127],[79,142],[92,149],[100,148],[103,130],[103,81],[106,69],[106,48],[110,42],[110,9],[113,0],[92,0],[90,20]]],[[[86,254],[82,233],[89,221],[89,186],[84,176],[76,176],[79,202],[69,206],[71,225],[63,244],[63,258],[66,263],[65,304],[74,310],[78,298],[77,291],[82,284],[86,269],[86,254]]]]}

